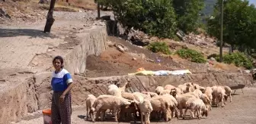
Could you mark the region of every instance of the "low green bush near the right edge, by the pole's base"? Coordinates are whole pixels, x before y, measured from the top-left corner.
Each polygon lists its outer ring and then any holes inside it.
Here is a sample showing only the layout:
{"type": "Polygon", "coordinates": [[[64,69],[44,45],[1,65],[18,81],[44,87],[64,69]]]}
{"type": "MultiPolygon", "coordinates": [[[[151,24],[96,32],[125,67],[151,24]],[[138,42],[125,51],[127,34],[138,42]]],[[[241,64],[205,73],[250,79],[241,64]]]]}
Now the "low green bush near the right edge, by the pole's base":
{"type": "MultiPolygon", "coordinates": [[[[216,60],[219,61],[219,55],[216,57],[216,60]]],[[[245,67],[246,69],[251,69],[253,67],[251,58],[246,57],[246,55],[241,52],[224,54],[223,62],[225,64],[235,64],[236,67],[245,67]]]]}

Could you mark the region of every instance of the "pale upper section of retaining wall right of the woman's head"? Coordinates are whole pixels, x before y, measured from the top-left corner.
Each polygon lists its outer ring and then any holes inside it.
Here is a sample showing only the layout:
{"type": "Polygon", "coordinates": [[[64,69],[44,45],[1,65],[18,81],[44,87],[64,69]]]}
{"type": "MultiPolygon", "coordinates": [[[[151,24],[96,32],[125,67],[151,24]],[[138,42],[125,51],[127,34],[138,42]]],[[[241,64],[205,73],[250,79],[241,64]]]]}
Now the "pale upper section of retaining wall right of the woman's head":
{"type": "Polygon", "coordinates": [[[73,51],[64,55],[65,68],[69,73],[83,73],[86,57],[90,54],[101,54],[106,49],[107,30],[105,26],[92,26],[85,33],[76,34],[82,42],[73,51]]]}

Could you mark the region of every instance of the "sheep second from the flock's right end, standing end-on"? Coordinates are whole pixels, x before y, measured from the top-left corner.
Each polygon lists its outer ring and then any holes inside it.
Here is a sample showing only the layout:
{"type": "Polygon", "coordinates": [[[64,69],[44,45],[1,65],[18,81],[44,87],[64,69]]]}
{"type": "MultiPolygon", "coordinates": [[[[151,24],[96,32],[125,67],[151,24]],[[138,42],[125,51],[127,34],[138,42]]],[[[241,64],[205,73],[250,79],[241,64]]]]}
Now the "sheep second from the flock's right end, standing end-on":
{"type": "Polygon", "coordinates": [[[216,104],[217,107],[219,106],[219,102],[221,102],[222,107],[224,107],[224,98],[227,96],[225,94],[225,89],[222,88],[221,86],[216,86],[215,88],[213,88],[213,102],[215,103],[216,100],[216,104]]]}

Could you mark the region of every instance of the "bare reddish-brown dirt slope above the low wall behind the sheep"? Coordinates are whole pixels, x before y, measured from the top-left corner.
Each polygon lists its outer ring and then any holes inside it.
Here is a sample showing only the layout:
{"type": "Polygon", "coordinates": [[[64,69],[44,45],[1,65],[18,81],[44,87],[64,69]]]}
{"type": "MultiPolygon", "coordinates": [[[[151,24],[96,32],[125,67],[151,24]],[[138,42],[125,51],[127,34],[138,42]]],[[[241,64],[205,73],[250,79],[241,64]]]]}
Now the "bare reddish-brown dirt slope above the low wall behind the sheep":
{"type": "Polygon", "coordinates": [[[162,56],[148,51],[146,48],[139,48],[131,45],[123,39],[108,37],[109,47],[100,56],[90,55],[86,61],[87,77],[98,76],[120,76],[128,73],[135,73],[139,67],[145,70],[190,70],[192,73],[209,72],[238,72],[238,67],[229,64],[214,65],[191,63],[189,60],[181,59],[178,55],[162,56]],[[115,43],[125,46],[128,51],[118,51],[113,45],[115,43]],[[136,60],[133,60],[133,57],[136,60]],[[161,60],[159,63],[157,59],[161,60]],[[209,70],[208,70],[209,69],[209,70]],[[220,70],[219,70],[220,69],[220,70]]]}

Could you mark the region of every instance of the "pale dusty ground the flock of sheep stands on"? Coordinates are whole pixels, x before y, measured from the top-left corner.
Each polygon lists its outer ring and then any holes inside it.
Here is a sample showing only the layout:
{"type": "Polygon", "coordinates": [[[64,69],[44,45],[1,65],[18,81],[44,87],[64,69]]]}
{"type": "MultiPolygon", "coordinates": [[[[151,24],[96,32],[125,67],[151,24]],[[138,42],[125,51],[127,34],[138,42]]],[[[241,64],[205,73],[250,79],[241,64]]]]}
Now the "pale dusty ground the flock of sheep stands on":
{"type": "MultiPolygon", "coordinates": [[[[241,90],[235,92],[235,95],[232,96],[232,102],[227,103],[225,107],[213,107],[213,110],[210,111],[210,115],[202,119],[172,119],[170,122],[173,124],[190,124],[190,123],[198,123],[198,124],[254,124],[256,122],[255,114],[256,114],[256,88],[244,88],[244,95],[241,90]]],[[[189,113],[187,113],[188,115],[189,113]]],[[[82,124],[82,123],[93,123],[85,121],[83,118],[85,117],[86,112],[85,108],[75,109],[72,113],[72,124],[82,124]]],[[[21,120],[17,122],[17,124],[34,124],[34,123],[42,123],[43,117],[40,116],[37,119],[30,120],[21,120]]],[[[161,122],[161,123],[170,123],[170,122],[161,122]]],[[[97,122],[110,124],[113,122],[97,122]]],[[[117,123],[117,122],[114,122],[117,123]]],[[[121,122],[127,123],[127,122],[121,122]]],[[[154,122],[152,123],[159,123],[154,122]]]]}

